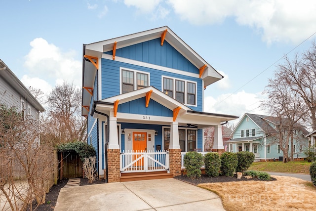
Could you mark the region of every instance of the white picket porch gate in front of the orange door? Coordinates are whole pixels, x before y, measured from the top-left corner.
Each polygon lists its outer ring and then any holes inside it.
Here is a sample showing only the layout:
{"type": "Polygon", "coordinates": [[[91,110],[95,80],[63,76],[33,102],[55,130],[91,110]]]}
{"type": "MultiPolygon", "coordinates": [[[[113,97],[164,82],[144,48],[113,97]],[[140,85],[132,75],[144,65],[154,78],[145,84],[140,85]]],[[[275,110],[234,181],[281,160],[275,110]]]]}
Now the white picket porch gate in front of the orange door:
{"type": "Polygon", "coordinates": [[[164,171],[169,173],[168,151],[126,151],[120,153],[121,172],[164,171]]]}

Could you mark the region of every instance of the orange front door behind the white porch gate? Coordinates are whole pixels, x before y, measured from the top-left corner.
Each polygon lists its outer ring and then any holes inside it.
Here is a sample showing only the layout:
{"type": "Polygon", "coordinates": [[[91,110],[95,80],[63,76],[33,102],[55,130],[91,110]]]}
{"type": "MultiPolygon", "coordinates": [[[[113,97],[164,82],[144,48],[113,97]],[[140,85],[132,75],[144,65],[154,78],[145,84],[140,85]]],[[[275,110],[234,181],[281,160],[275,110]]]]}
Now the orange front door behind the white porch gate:
{"type": "MultiPolygon", "coordinates": [[[[146,132],[133,132],[133,151],[144,152],[147,150],[147,133],[146,132]]],[[[141,155],[134,155],[134,160],[138,159],[141,155]]],[[[139,159],[134,166],[144,166],[144,158],[139,159]]]]}

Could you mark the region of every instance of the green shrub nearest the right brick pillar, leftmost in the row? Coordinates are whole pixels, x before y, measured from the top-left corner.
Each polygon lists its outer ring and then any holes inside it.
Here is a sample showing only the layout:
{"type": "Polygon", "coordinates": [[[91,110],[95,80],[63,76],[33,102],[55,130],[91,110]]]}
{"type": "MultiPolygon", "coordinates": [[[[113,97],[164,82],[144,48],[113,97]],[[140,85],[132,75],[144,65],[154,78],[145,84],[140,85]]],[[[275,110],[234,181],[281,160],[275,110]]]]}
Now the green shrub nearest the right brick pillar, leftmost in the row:
{"type": "Polygon", "coordinates": [[[203,156],[197,152],[188,152],[184,156],[184,166],[187,169],[187,176],[195,179],[201,177],[201,167],[203,166],[203,156]]]}

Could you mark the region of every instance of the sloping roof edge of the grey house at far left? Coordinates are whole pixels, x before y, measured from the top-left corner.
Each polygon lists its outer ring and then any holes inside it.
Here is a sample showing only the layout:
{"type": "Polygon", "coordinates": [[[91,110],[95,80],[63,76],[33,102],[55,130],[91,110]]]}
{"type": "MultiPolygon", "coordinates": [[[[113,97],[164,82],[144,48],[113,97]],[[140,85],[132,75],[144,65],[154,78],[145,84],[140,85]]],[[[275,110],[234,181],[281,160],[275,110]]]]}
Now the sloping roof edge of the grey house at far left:
{"type": "Polygon", "coordinates": [[[24,84],[14,75],[14,73],[0,60],[0,77],[4,79],[13,89],[15,89],[21,96],[25,97],[27,101],[34,106],[38,111],[43,112],[45,109],[33,94],[25,87],[24,84]]]}

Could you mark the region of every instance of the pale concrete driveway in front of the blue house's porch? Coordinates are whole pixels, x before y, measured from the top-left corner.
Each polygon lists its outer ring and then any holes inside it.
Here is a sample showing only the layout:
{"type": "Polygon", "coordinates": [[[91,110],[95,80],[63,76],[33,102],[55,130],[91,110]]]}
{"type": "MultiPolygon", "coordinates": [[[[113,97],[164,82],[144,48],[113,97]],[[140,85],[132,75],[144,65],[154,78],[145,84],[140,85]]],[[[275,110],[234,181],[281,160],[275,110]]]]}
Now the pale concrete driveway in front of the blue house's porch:
{"type": "Polygon", "coordinates": [[[215,193],[173,178],[62,188],[54,211],[92,210],[225,211],[215,193]]]}

